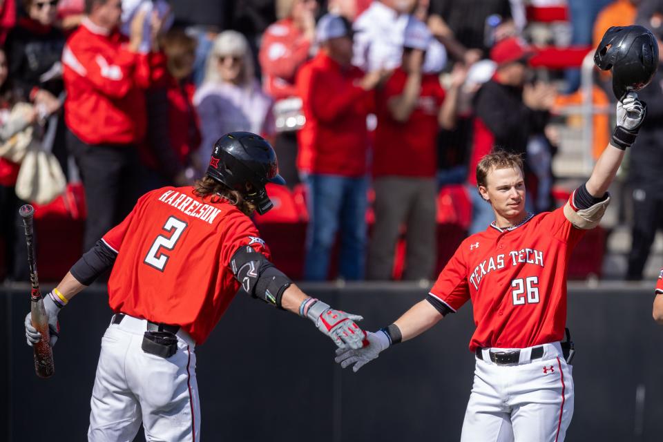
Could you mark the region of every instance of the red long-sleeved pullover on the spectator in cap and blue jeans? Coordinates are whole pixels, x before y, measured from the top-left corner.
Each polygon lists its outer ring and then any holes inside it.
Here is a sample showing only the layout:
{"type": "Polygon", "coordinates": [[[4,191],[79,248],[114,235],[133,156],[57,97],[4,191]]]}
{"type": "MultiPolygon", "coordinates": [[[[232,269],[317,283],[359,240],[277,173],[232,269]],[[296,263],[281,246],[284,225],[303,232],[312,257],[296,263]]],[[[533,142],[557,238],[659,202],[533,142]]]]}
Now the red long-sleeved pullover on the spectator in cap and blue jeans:
{"type": "Polygon", "coordinates": [[[307,173],[365,175],[366,117],[373,94],[356,86],[363,72],[341,68],[324,51],[300,68],[297,90],[306,123],[297,133],[297,167],[307,173]]]}

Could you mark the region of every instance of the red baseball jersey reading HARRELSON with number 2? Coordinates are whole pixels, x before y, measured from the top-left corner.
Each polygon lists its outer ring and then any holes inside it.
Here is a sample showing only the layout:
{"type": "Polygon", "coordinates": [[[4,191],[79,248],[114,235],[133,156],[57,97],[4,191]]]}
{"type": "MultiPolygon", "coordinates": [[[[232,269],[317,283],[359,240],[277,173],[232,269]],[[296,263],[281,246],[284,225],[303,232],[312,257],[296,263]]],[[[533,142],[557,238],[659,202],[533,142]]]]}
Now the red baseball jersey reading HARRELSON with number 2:
{"type": "Polygon", "coordinates": [[[224,200],[203,200],[191,186],[146,193],[102,240],[117,252],[111,309],[180,325],[198,344],[240,288],[229,267],[237,249],[248,244],[269,258],[247,215],[224,200]]]}

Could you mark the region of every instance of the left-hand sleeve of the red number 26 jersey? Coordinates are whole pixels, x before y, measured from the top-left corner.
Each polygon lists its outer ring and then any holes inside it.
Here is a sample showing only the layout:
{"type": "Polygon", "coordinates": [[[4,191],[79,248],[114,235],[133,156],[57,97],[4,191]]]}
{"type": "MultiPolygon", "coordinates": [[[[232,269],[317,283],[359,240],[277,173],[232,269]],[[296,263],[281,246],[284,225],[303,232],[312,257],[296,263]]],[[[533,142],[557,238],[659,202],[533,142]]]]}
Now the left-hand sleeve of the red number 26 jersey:
{"type": "Polygon", "coordinates": [[[430,289],[430,296],[443,302],[454,312],[470,300],[468,267],[465,265],[462,249],[461,245],[442,269],[433,288],[430,289]]]}

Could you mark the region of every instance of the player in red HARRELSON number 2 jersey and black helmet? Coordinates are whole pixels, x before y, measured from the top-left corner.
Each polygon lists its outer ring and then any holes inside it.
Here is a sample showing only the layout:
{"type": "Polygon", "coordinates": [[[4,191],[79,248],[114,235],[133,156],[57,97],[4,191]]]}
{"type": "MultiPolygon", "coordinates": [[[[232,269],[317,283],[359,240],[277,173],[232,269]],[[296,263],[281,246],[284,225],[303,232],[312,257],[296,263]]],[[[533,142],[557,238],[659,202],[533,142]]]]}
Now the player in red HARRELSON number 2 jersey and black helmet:
{"type": "MultiPolygon", "coordinates": [[[[133,211],[70,269],[44,298],[57,339],[59,310],[111,269],[115,312],[102,338],[89,441],[199,441],[195,345],[204,343],[240,287],[270,305],[314,321],[340,348],[359,348],[361,316],[307,297],[269,262],[247,215],[265,213],[267,182],[284,184],[267,141],[246,132],[214,146],[195,186],[143,195],[133,211]]],[[[26,316],[28,344],[41,338],[26,316]]]]}

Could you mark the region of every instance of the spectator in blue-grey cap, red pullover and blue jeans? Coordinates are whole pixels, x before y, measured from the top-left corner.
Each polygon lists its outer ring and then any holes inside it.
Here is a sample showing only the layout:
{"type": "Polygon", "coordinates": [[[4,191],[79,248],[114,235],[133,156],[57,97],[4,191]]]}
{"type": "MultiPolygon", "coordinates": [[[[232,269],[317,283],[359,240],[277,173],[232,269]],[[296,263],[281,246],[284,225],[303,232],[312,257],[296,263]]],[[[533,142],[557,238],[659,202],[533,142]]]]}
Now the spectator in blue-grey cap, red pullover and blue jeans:
{"type": "Polygon", "coordinates": [[[352,28],[338,15],[318,22],[318,55],[299,70],[297,88],[306,123],[298,132],[297,164],[307,186],[309,226],[304,276],[325,280],[340,224],[341,278],[364,274],[370,92],[383,72],[352,66],[352,28]]]}

